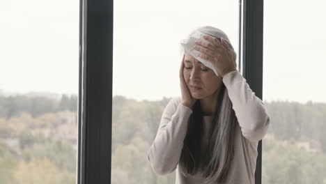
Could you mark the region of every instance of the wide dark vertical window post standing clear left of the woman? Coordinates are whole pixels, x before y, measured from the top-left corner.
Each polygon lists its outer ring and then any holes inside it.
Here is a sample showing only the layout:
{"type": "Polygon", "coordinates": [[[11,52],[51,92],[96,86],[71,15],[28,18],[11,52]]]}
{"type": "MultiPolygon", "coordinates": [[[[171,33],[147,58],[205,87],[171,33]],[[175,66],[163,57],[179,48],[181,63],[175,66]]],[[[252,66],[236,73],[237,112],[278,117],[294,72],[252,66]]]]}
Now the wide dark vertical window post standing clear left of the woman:
{"type": "Polygon", "coordinates": [[[113,0],[79,0],[77,183],[111,183],[113,0]]]}

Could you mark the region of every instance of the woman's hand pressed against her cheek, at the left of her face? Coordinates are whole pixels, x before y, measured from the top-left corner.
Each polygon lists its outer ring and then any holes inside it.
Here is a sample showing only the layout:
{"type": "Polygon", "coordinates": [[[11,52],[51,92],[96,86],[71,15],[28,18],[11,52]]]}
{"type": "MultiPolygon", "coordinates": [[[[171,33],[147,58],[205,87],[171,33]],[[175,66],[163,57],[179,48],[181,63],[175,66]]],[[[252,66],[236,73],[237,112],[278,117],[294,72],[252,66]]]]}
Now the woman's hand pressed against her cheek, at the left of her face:
{"type": "MultiPolygon", "coordinates": [[[[185,59],[185,54],[183,54],[183,60],[185,59]]],[[[191,108],[197,99],[192,97],[187,84],[185,83],[185,78],[183,77],[183,68],[185,63],[181,61],[179,77],[180,77],[180,89],[181,89],[181,103],[189,108],[191,108]]]]}

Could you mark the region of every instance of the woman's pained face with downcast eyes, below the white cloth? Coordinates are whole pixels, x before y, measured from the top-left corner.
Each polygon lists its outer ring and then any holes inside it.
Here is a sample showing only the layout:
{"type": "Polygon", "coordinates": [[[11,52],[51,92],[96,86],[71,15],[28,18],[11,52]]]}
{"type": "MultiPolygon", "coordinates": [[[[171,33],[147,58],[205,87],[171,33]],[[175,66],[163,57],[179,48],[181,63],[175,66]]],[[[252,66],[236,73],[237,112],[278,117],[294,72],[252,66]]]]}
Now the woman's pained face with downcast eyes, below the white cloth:
{"type": "Polygon", "coordinates": [[[183,62],[185,63],[183,77],[193,98],[205,98],[219,89],[222,84],[220,75],[217,77],[213,70],[196,60],[188,52],[185,52],[183,62]],[[201,89],[193,89],[191,86],[199,86],[201,89]]]}

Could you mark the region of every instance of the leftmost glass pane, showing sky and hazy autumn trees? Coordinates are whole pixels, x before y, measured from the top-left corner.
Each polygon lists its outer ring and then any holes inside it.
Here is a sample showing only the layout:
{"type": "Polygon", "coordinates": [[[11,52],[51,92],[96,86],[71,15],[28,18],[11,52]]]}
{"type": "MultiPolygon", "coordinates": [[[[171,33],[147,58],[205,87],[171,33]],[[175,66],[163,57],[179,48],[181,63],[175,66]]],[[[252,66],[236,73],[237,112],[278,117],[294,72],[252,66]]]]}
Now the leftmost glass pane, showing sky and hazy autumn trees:
{"type": "Polygon", "coordinates": [[[76,183],[79,1],[0,3],[0,183],[76,183]]]}

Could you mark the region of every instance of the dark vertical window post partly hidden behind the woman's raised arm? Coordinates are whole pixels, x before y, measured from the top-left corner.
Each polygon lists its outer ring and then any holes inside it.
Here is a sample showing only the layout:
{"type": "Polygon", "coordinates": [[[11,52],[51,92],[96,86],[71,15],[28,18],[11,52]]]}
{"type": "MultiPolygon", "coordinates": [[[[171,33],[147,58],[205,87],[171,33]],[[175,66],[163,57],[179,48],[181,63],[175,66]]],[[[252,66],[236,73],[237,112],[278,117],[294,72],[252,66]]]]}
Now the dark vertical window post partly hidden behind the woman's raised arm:
{"type": "MultiPolygon", "coordinates": [[[[243,17],[243,21],[240,19],[240,40],[242,40],[240,46],[243,49],[239,50],[243,54],[242,76],[261,100],[263,100],[263,2],[240,0],[240,15],[243,17]]],[[[263,140],[259,141],[257,146],[256,184],[261,184],[262,144],[263,140]]]]}

